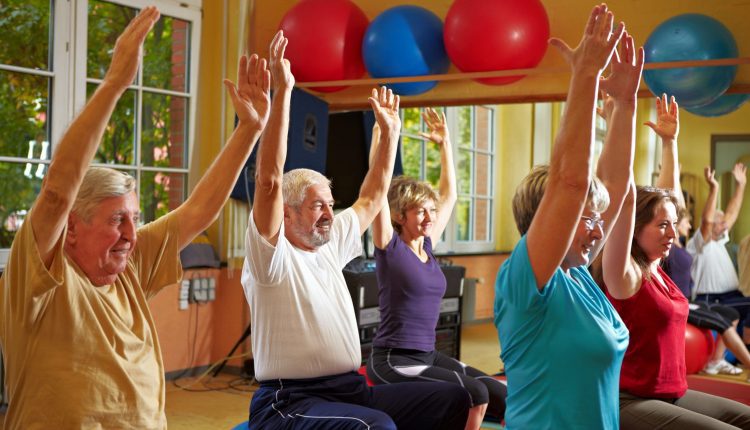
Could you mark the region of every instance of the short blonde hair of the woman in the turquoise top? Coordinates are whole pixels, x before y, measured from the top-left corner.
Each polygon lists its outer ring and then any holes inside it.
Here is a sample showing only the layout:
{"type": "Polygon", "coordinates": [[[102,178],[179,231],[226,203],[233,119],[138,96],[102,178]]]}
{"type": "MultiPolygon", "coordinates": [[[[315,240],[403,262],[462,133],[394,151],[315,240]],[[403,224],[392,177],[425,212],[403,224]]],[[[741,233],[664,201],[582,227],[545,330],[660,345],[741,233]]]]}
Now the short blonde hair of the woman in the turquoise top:
{"type": "MultiPolygon", "coordinates": [[[[534,166],[516,188],[516,193],[513,196],[513,217],[521,235],[526,234],[531,227],[531,221],[534,219],[536,210],[542,201],[548,180],[549,166],[534,166]]],[[[607,188],[596,176],[593,177],[589,185],[586,206],[596,212],[604,212],[609,206],[607,188]]]]}

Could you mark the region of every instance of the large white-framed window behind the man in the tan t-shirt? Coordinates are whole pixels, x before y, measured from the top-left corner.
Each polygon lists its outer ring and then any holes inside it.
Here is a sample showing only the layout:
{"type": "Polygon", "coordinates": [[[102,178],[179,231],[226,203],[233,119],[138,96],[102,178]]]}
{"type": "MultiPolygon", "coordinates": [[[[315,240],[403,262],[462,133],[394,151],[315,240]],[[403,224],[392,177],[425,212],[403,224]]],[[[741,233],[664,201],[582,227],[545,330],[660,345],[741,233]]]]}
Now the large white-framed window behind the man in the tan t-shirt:
{"type": "Polygon", "coordinates": [[[119,34],[149,4],[162,16],[93,160],[136,178],[145,221],[186,195],[201,0],[0,2],[0,267],[55,144],[104,77],[119,34]]]}

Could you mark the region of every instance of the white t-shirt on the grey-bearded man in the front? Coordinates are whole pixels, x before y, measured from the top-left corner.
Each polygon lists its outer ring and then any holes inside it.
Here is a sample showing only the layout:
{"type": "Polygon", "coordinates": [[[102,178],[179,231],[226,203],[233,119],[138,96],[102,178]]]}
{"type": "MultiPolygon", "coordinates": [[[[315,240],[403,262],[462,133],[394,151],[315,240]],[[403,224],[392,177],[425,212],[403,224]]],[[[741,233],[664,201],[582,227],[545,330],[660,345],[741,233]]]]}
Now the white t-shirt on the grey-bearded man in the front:
{"type": "Polygon", "coordinates": [[[315,252],[293,246],[281,224],[274,247],[250,213],[242,286],[250,304],[255,376],[301,379],[357,370],[362,361],[354,306],[341,269],[362,254],[349,208],[334,218],[331,240],[315,252]]]}

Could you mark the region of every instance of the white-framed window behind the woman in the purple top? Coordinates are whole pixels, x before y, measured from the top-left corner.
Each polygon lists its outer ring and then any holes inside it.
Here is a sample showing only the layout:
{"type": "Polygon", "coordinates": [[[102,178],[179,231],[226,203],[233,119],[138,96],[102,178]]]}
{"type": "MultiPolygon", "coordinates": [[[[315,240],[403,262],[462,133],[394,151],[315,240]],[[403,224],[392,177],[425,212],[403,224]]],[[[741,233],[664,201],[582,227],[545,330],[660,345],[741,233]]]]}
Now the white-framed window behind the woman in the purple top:
{"type": "MultiPolygon", "coordinates": [[[[486,106],[443,108],[453,143],[458,202],[438,249],[441,253],[488,252],[495,248],[494,163],[495,110],[486,106]]],[[[421,109],[402,110],[404,174],[430,182],[437,189],[440,150],[419,136],[426,131],[421,109]]]]}

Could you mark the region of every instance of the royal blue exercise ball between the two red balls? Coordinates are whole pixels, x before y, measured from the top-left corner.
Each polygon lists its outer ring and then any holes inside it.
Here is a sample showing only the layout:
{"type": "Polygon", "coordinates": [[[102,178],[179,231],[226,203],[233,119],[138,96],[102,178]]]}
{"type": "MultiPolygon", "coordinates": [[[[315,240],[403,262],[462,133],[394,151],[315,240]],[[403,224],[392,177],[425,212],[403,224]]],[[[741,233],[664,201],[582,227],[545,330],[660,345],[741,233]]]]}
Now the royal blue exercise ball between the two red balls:
{"type": "MultiPolygon", "coordinates": [[[[445,73],[450,59],[443,45],[443,22],[418,6],[396,6],[378,15],[362,41],[365,68],[374,78],[445,73]]],[[[437,81],[392,84],[397,94],[416,95],[437,81]]]]}

